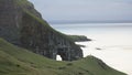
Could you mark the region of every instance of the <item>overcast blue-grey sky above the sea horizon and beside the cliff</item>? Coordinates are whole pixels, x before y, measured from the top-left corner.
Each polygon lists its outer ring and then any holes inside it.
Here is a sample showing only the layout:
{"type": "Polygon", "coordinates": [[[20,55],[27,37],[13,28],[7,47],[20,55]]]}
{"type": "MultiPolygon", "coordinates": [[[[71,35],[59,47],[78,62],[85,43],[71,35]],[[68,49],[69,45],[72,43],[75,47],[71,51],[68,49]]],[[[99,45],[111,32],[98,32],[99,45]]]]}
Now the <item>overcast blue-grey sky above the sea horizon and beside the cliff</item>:
{"type": "Polygon", "coordinates": [[[131,20],[132,0],[30,0],[47,21],[131,20]]]}

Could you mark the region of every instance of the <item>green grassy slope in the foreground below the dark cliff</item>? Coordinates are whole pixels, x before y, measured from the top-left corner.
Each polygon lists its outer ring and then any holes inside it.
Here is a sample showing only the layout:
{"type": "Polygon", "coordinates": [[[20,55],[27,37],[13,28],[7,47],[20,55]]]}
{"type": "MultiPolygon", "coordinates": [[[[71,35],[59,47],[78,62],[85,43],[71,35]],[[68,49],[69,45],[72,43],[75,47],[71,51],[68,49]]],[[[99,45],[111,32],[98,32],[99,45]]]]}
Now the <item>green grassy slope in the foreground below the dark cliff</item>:
{"type": "Polygon", "coordinates": [[[125,75],[88,56],[74,62],[48,60],[0,39],[0,75],[125,75]]]}

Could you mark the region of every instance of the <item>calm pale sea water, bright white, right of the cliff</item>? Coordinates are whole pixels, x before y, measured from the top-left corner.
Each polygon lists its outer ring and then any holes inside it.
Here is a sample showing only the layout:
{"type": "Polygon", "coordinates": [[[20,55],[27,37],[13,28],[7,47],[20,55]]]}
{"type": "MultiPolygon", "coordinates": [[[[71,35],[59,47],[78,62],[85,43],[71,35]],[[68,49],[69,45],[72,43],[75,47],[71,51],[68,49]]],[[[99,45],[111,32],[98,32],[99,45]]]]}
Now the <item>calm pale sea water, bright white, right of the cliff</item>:
{"type": "Polygon", "coordinates": [[[53,24],[66,34],[86,35],[84,56],[94,55],[111,67],[132,75],[132,23],[53,24]],[[100,49],[100,50],[97,50],[100,49]]]}

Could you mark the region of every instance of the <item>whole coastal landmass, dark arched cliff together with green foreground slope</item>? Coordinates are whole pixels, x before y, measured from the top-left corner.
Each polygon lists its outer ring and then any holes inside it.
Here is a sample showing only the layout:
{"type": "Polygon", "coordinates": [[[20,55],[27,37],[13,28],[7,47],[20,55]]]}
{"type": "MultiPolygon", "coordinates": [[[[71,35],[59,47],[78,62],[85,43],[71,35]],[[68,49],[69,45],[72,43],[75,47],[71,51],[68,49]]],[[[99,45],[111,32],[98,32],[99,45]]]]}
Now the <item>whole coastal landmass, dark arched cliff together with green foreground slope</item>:
{"type": "Polygon", "coordinates": [[[28,0],[0,0],[0,75],[127,75],[92,55],[82,57],[73,40],[28,0]]]}

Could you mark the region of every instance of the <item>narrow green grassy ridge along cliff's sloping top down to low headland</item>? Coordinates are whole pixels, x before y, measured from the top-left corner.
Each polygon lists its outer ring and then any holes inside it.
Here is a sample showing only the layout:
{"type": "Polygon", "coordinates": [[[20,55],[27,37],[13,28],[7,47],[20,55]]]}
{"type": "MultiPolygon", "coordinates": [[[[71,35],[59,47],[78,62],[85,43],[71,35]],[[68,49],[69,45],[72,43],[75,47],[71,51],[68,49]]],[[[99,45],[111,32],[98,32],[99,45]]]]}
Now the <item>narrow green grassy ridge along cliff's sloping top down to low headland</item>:
{"type": "MultiPolygon", "coordinates": [[[[44,21],[42,18],[38,18],[36,15],[34,15],[31,11],[29,11],[29,9],[26,9],[26,7],[32,7],[34,8],[34,6],[28,1],[28,0],[15,0],[14,1],[19,7],[21,7],[22,11],[24,13],[26,13],[28,15],[30,15],[31,18],[33,18],[34,20],[36,20],[37,22],[42,23],[45,28],[47,28],[51,32],[61,35],[62,38],[70,41],[70,42],[75,42],[77,40],[79,40],[79,38],[85,38],[85,36],[79,36],[79,35],[66,35],[55,29],[53,29],[46,21],[44,21]]],[[[34,9],[35,10],[35,9],[34,9]]],[[[36,11],[36,10],[35,10],[36,11]]],[[[37,11],[36,11],[37,12],[37,11]]],[[[89,39],[88,39],[89,41],[89,39]]]]}

